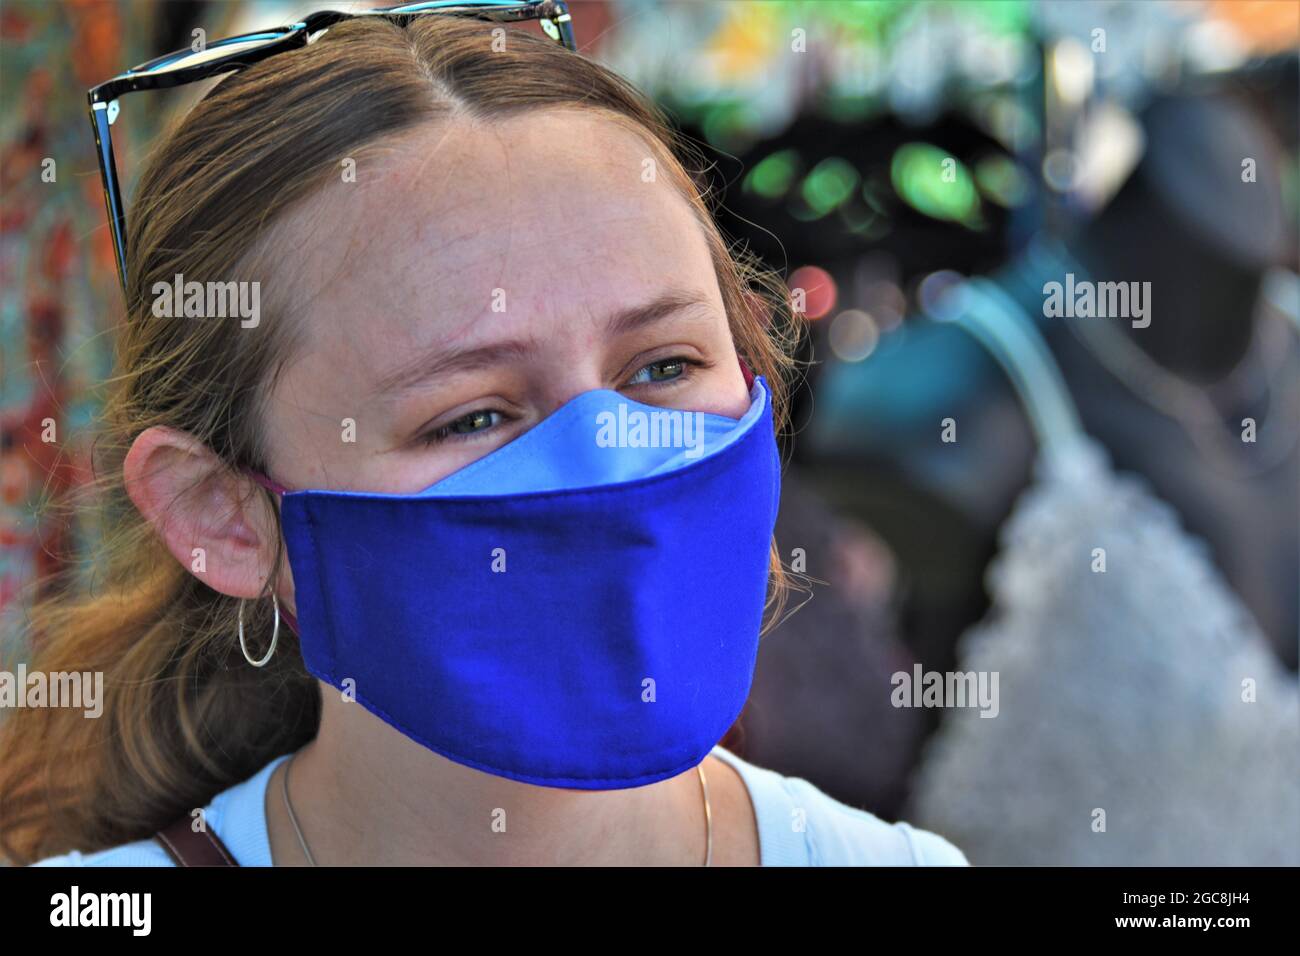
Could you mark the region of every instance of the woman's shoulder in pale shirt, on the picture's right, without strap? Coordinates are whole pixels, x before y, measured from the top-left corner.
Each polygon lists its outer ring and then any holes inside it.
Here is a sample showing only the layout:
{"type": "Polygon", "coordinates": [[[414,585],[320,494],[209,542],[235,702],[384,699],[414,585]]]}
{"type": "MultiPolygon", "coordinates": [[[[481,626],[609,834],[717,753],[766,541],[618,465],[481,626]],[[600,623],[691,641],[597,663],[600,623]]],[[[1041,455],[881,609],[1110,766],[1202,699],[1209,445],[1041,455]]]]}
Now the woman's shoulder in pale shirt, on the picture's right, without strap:
{"type": "Polygon", "coordinates": [[[910,823],[842,804],[802,777],[784,777],[729,750],[714,756],[745,780],[764,866],[968,866],[957,847],[910,823]]]}

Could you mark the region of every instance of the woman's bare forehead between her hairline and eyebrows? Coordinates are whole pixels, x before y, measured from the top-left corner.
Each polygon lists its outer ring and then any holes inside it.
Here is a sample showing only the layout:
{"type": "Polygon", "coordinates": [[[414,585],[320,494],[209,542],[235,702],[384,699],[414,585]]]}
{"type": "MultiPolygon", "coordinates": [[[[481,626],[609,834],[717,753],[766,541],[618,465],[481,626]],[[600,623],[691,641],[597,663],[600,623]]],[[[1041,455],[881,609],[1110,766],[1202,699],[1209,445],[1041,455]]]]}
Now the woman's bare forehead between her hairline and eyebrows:
{"type": "Polygon", "coordinates": [[[412,345],[486,317],[545,336],[667,282],[720,306],[703,230],[659,163],[590,111],[439,120],[365,152],[355,182],[341,173],[287,217],[277,276],[317,343],[355,342],[352,320],[412,345]]]}

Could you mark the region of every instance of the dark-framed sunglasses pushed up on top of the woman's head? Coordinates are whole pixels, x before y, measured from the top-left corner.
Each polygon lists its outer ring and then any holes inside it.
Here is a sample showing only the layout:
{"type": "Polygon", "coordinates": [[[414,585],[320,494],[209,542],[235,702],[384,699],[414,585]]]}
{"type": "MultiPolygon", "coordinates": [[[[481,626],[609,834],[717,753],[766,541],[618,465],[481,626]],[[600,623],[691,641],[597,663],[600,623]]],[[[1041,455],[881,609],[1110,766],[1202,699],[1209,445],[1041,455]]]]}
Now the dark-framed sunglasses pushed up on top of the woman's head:
{"type": "Polygon", "coordinates": [[[113,234],[113,255],[117,260],[117,278],[126,294],[126,209],[117,182],[117,161],[113,156],[113,138],[109,127],[117,120],[117,98],[139,90],[168,90],[195,83],[221,73],[233,73],[255,62],[298,49],[321,33],[347,20],[384,17],[399,26],[425,14],[473,17],[495,22],[536,20],[542,31],[567,49],[577,52],[573,42],[572,18],[564,0],[425,0],[398,4],[358,13],[321,10],[296,23],[260,30],[257,33],[213,40],[202,49],[185,48],[148,62],[133,66],[112,79],[90,90],[90,121],[95,131],[95,150],[99,153],[99,172],[104,185],[104,204],[108,208],[108,228],[113,234]]]}

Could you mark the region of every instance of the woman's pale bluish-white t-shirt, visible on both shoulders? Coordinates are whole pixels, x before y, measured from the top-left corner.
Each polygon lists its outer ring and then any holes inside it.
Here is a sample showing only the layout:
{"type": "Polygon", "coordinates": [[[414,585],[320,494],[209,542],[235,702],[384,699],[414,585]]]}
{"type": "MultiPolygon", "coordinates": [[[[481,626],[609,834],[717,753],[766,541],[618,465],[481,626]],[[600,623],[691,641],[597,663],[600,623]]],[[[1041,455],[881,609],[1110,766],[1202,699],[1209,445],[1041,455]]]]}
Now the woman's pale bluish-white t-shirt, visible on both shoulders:
{"type": "MultiPolygon", "coordinates": [[[[758,819],[763,866],[968,866],[965,855],[937,834],[907,823],[887,823],[823,793],[802,777],[783,777],[715,747],[712,756],[740,773],[758,819]]],[[[212,799],[204,819],[240,866],[270,866],[266,784],[282,754],[212,799]]],[[[32,866],[174,866],[156,840],[81,853],[73,851],[32,866]]]]}

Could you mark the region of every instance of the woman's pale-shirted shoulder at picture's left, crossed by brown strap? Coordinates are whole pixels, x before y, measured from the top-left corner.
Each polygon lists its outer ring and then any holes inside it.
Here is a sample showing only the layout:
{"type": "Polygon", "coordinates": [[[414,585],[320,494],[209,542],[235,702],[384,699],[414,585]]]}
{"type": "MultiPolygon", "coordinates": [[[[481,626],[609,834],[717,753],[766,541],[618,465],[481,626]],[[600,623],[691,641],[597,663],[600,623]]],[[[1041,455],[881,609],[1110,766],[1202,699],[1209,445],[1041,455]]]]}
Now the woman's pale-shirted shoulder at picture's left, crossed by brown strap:
{"type": "MultiPolygon", "coordinates": [[[[203,819],[216,832],[240,866],[270,866],[266,838],[265,793],[272,771],[289,754],[276,757],[247,780],[217,793],[203,808],[203,819]]],[[[176,866],[162,844],[150,838],[108,849],[72,851],[38,860],[32,866],[176,866]]]]}

